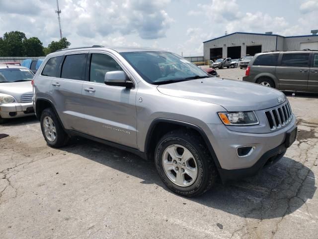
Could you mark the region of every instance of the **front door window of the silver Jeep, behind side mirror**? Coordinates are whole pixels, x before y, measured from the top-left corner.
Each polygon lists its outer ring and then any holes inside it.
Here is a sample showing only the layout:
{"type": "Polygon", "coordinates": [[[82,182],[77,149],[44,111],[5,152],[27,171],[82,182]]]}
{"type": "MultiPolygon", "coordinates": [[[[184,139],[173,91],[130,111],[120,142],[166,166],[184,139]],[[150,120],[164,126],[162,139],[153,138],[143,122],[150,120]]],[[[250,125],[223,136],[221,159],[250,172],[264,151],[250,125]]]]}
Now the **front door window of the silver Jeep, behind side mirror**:
{"type": "Polygon", "coordinates": [[[105,54],[92,54],[90,61],[89,81],[104,83],[108,71],[122,71],[119,64],[105,54]]]}

